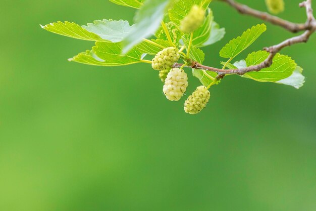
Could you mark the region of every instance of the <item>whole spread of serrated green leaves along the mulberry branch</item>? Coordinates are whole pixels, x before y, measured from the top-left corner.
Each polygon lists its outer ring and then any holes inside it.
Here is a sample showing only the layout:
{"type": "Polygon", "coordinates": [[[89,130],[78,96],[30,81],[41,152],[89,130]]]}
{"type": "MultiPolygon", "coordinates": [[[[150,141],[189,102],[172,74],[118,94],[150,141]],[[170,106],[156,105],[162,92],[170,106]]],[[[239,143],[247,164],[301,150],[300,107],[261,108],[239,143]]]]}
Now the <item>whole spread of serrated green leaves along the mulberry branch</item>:
{"type": "MultiPolygon", "coordinates": [[[[150,63],[146,57],[156,55],[172,46],[179,49],[190,48],[187,59],[202,64],[205,55],[201,48],[220,41],[225,34],[225,29],[220,28],[214,21],[213,12],[208,8],[212,0],[110,1],[137,9],[135,24],[130,25],[128,21],[123,20],[104,19],[88,23],[86,26],[58,21],[42,28],[72,38],[95,41],[95,46],[91,50],[79,53],[69,61],[98,66],[150,63]],[[199,5],[205,9],[206,17],[204,23],[190,37],[181,32],[179,25],[193,5],[199,5]]],[[[256,25],[229,41],[220,51],[220,56],[228,59],[226,62],[221,62],[223,69],[249,67],[267,59],[268,52],[257,51],[250,53],[245,60],[232,63],[233,59],[247,49],[266,29],[264,24],[256,25]]],[[[192,69],[192,72],[205,87],[213,84],[217,76],[217,73],[205,70],[192,69]]],[[[297,66],[294,60],[277,54],[271,67],[257,72],[248,72],[242,77],[260,82],[282,83],[298,89],[304,83],[304,76],[301,73],[302,68],[297,66]]]]}

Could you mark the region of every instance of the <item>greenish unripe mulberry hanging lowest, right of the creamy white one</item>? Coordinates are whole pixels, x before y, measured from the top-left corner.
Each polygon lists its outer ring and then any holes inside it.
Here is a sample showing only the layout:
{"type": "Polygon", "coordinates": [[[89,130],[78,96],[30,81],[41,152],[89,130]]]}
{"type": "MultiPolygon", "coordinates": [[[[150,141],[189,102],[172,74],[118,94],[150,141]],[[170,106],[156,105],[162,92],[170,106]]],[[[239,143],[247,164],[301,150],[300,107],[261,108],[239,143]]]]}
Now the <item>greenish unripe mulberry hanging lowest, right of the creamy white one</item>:
{"type": "Polygon", "coordinates": [[[184,103],[184,111],[189,114],[197,114],[205,108],[210,98],[209,91],[204,86],[199,86],[184,103]]]}

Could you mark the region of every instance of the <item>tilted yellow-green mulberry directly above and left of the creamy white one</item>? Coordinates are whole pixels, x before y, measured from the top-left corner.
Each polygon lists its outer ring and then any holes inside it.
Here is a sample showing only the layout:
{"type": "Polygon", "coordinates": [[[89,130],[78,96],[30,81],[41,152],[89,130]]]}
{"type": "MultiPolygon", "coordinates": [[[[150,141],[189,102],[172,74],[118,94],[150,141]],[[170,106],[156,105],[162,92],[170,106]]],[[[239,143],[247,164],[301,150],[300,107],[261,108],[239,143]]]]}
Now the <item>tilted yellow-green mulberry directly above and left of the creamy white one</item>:
{"type": "Polygon", "coordinates": [[[169,47],[157,53],[157,55],[152,59],[152,68],[155,70],[170,69],[180,58],[178,51],[179,50],[177,48],[169,47]]]}

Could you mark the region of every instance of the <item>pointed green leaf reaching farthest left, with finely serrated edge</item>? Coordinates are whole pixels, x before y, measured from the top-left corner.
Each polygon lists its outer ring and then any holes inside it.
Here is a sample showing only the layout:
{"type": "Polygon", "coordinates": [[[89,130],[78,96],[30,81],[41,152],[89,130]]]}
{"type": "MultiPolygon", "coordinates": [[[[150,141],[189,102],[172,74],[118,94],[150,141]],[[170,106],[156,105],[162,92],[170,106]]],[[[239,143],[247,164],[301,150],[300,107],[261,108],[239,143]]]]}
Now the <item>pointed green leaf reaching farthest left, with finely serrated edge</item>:
{"type": "Polygon", "coordinates": [[[92,32],[87,31],[86,29],[82,28],[76,23],[70,23],[70,22],[61,22],[58,21],[57,23],[51,23],[47,24],[45,26],[41,27],[47,31],[50,31],[52,33],[60,34],[63,36],[68,36],[76,39],[83,39],[83,40],[89,40],[89,41],[107,41],[102,39],[97,34],[94,34],[92,32]]]}

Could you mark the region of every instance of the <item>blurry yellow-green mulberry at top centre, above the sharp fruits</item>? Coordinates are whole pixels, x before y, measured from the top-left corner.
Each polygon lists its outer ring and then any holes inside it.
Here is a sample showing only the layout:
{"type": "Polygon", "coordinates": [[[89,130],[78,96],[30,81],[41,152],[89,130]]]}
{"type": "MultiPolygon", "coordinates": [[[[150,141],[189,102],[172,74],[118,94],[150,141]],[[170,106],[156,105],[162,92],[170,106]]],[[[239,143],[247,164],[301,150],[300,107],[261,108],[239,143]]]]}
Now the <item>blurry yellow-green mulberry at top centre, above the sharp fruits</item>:
{"type": "Polygon", "coordinates": [[[189,14],[181,21],[180,30],[184,33],[191,33],[203,24],[204,18],[205,10],[194,5],[189,14]]]}

